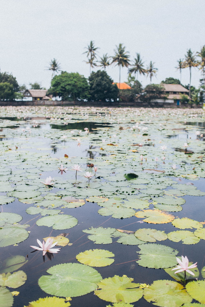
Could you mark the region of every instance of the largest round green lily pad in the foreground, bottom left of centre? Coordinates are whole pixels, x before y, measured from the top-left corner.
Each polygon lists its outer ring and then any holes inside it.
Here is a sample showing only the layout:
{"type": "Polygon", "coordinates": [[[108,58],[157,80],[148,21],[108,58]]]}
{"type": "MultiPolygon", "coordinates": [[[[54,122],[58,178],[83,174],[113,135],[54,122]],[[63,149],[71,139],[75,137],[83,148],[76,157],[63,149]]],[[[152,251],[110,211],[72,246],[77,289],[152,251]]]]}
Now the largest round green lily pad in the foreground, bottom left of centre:
{"type": "Polygon", "coordinates": [[[80,263],[62,263],[49,268],[39,278],[41,290],[48,294],[76,297],[92,292],[102,279],[97,270],[80,263]]]}

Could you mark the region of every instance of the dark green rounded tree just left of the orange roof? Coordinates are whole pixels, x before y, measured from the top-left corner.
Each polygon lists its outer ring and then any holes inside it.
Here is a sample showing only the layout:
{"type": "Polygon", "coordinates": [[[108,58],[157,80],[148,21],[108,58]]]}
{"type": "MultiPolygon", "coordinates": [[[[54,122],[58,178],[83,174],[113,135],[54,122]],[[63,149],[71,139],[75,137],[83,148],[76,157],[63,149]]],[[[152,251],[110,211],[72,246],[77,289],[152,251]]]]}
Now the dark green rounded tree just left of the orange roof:
{"type": "Polygon", "coordinates": [[[115,101],[119,90],[113,80],[104,70],[92,72],[88,78],[90,85],[90,95],[93,101],[115,101]]]}

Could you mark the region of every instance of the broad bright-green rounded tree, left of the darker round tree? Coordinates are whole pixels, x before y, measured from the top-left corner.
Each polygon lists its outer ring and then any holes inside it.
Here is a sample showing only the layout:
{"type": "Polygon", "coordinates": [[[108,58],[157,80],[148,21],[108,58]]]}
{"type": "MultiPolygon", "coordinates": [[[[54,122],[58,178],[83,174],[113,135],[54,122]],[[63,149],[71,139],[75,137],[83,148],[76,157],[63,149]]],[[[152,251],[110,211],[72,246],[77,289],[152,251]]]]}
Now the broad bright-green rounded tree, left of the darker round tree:
{"type": "Polygon", "coordinates": [[[83,100],[89,98],[89,84],[78,72],[61,72],[53,77],[49,94],[62,100],[83,100]]]}

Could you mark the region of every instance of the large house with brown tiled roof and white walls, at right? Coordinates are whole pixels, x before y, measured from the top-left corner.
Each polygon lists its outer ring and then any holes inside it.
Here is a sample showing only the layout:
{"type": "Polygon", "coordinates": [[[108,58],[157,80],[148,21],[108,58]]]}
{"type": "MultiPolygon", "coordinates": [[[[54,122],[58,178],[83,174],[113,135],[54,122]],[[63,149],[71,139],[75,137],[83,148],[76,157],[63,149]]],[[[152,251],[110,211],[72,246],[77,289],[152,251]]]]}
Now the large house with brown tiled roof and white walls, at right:
{"type": "Polygon", "coordinates": [[[159,103],[176,103],[177,106],[180,105],[180,94],[187,95],[189,91],[183,87],[181,84],[164,84],[161,83],[161,85],[165,88],[164,93],[165,96],[167,96],[167,99],[164,100],[162,97],[161,99],[156,99],[156,102],[159,103]]]}

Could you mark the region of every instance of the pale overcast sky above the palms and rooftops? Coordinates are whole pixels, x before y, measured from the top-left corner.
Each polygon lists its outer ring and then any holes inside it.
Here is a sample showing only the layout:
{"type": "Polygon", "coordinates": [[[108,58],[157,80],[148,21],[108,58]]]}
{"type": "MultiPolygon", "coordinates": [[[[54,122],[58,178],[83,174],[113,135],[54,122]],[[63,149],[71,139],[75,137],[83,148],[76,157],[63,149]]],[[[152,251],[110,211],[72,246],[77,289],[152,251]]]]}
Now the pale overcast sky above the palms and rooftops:
{"type": "MultiPolygon", "coordinates": [[[[177,60],[187,49],[205,45],[204,0],[1,0],[0,68],[12,73],[20,85],[39,82],[49,88],[56,58],[61,69],[89,77],[89,64],[82,54],[90,41],[99,56],[114,55],[122,43],[130,58],[139,52],[145,66],[158,68],[153,83],[166,77],[180,78],[177,60]]],[[[95,69],[96,71],[96,69],[95,69]]],[[[121,82],[127,80],[123,68],[121,82]]],[[[108,74],[119,82],[119,68],[108,74]]],[[[140,76],[143,86],[148,78],[140,76]]],[[[199,85],[200,71],[192,69],[192,84],[199,85]]],[[[189,69],[182,70],[182,84],[189,83],[189,69]]]]}

